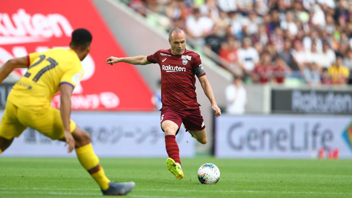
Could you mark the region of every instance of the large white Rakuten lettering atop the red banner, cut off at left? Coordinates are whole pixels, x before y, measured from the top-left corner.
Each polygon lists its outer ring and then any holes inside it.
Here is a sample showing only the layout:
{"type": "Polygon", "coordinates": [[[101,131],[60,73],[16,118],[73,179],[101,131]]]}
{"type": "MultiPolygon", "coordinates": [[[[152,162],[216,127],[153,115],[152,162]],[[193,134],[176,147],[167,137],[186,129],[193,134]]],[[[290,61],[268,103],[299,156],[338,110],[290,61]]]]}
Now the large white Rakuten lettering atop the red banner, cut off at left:
{"type": "Polygon", "coordinates": [[[0,45],[43,42],[63,35],[71,37],[72,31],[67,18],[58,13],[31,16],[22,8],[14,14],[0,13],[0,45]]]}

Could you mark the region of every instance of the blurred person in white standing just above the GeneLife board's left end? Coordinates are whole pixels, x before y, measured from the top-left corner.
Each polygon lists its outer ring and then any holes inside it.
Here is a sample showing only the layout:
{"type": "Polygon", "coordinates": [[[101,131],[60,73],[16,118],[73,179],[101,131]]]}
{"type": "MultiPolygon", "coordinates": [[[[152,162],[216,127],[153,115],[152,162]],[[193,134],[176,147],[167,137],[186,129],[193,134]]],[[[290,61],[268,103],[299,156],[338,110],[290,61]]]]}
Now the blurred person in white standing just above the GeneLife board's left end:
{"type": "Polygon", "coordinates": [[[245,112],[247,93],[239,76],[234,76],[232,84],[228,85],[225,89],[225,95],[227,100],[227,113],[243,114],[245,112]]]}

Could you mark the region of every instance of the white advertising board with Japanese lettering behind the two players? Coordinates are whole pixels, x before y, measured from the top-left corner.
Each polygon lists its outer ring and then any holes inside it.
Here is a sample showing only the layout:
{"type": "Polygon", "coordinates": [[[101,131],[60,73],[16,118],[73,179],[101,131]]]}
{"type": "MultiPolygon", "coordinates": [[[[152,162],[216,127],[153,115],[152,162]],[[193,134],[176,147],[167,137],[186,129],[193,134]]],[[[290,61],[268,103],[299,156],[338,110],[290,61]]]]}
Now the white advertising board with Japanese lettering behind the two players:
{"type": "MultiPolygon", "coordinates": [[[[0,115],[2,116],[2,111],[0,115]]],[[[78,126],[87,131],[98,156],[167,157],[158,112],[73,112],[78,126]]],[[[176,136],[181,157],[194,155],[195,140],[181,127],[176,136]]],[[[52,141],[27,128],[1,156],[75,156],[67,154],[64,142],[52,141]]]]}

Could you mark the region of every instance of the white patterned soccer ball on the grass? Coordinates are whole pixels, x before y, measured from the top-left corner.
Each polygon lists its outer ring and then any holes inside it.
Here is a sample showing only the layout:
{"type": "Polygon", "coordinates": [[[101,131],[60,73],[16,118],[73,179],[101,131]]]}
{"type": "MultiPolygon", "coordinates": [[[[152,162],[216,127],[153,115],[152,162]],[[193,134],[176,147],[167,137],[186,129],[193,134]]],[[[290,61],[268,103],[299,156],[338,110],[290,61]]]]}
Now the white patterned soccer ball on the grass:
{"type": "Polygon", "coordinates": [[[212,163],[205,163],[198,169],[198,179],[202,184],[216,184],[220,179],[220,171],[212,163]]]}

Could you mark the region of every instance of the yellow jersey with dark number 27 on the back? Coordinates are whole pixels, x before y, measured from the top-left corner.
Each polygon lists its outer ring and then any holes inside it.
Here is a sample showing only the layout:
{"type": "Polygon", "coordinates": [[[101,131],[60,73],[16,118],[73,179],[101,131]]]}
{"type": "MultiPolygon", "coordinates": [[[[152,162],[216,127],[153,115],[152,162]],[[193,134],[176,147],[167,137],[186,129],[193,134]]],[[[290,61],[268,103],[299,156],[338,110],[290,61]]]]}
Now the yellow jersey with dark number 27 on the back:
{"type": "Polygon", "coordinates": [[[84,74],[76,52],[72,49],[49,49],[27,56],[28,71],[12,87],[7,100],[27,111],[39,111],[50,107],[60,85],[67,83],[73,88],[84,74]]]}

